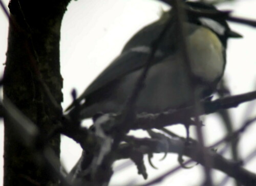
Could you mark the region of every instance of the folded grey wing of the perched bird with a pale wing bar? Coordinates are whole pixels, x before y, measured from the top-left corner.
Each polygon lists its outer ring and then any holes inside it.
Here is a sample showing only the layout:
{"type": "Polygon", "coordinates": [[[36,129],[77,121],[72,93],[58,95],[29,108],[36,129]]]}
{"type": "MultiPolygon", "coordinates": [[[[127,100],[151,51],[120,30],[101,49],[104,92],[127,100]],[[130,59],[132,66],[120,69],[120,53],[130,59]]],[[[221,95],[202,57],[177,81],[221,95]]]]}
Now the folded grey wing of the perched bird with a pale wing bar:
{"type": "MultiPolygon", "coordinates": [[[[163,29],[164,22],[153,23],[150,26],[143,28],[139,33],[130,39],[130,41],[125,45],[122,53],[117,57],[94,81],[93,83],[83,92],[83,94],[78,97],[76,103],[80,102],[88,95],[93,94],[96,90],[102,88],[108,83],[117,80],[131,72],[134,72],[142,68],[147,62],[151,55],[152,42],[159,36],[160,31],[163,29]],[[156,27],[156,28],[155,28],[156,27]],[[151,36],[151,32],[146,31],[146,28],[151,30],[155,28],[156,32],[151,36]],[[143,38],[143,36],[146,38],[143,38]],[[139,39],[139,38],[143,39],[139,39]],[[136,40],[139,39],[139,44],[136,44],[136,40]]],[[[172,29],[172,28],[169,28],[172,29]]],[[[188,28],[189,32],[193,32],[195,28],[188,28]]],[[[169,32],[168,32],[169,33],[169,32]]],[[[170,32],[172,33],[172,32],[170,32]]],[[[161,62],[162,59],[171,55],[175,52],[175,37],[172,34],[166,34],[159,43],[158,50],[155,52],[154,61],[152,65],[161,62]],[[168,54],[165,52],[168,51],[168,54]],[[167,55],[167,56],[166,56],[167,55]]],[[[74,106],[72,103],[66,110],[69,110],[74,106]]]]}

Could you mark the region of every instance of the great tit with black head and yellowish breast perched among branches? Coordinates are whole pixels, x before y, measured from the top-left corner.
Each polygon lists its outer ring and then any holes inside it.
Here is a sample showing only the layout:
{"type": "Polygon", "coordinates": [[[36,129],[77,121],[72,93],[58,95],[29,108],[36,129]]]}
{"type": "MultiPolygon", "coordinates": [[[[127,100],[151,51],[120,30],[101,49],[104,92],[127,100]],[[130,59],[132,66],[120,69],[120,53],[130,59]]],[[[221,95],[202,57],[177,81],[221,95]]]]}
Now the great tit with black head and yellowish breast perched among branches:
{"type": "MultiPolygon", "coordinates": [[[[214,6],[196,2],[187,2],[186,6],[198,10],[217,10],[214,6]]],[[[152,52],[152,43],[159,37],[167,21],[174,21],[172,16],[175,17],[165,12],[159,20],[136,33],[121,54],[73,102],[69,114],[82,120],[92,118],[97,113],[122,111],[152,52]]],[[[176,25],[172,24],[158,43],[153,64],[148,69],[135,103],[137,114],[162,113],[190,104],[193,100],[189,89],[191,82],[200,98],[211,95],[224,73],[227,39],[241,37],[230,30],[223,17],[187,16],[183,26],[193,81],[185,73],[176,25]]]]}

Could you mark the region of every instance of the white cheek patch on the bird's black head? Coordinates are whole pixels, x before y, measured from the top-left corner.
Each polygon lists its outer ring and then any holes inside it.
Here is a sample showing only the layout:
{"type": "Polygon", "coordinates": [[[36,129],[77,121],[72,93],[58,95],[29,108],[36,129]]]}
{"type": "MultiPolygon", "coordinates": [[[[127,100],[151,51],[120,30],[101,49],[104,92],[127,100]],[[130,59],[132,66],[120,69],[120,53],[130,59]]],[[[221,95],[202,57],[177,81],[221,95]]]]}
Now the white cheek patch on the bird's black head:
{"type": "Polygon", "coordinates": [[[203,26],[208,27],[217,34],[224,35],[226,28],[223,25],[221,25],[218,21],[207,17],[200,17],[199,21],[203,26]]]}

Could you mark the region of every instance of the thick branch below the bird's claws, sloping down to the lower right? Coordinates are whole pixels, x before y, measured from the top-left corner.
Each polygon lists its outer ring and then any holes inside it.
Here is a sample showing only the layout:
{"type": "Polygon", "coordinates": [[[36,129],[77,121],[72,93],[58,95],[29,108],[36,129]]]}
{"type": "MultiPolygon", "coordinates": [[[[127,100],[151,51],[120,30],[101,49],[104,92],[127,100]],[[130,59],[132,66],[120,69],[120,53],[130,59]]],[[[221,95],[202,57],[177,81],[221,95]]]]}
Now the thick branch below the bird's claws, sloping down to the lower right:
{"type": "MultiPolygon", "coordinates": [[[[144,154],[166,152],[165,144],[158,139],[133,138],[133,141],[134,144],[136,144],[136,151],[139,150],[144,154]]],[[[168,138],[168,152],[178,154],[183,152],[184,155],[204,166],[198,143],[193,141],[189,145],[184,145],[184,142],[185,139],[183,138],[168,138]]],[[[118,149],[116,158],[129,158],[133,153],[133,149],[133,146],[122,144],[118,149]]],[[[242,168],[238,162],[228,160],[208,148],[205,149],[205,152],[212,159],[212,168],[226,173],[243,185],[256,185],[256,175],[242,168]]],[[[160,180],[155,180],[155,183],[159,181],[160,180]]]]}

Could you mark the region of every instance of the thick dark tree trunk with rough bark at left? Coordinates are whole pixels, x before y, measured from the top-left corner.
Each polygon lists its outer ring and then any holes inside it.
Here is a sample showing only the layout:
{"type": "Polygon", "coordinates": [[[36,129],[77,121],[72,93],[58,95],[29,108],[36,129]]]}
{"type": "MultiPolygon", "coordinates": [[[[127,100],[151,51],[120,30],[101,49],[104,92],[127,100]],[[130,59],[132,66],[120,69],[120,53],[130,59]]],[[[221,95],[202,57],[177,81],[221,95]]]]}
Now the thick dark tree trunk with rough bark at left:
{"type": "MultiPolygon", "coordinates": [[[[4,99],[8,97],[44,136],[56,128],[56,115],[47,94],[39,83],[49,87],[52,96],[62,102],[59,41],[63,14],[70,0],[12,0],[7,61],[4,72],[4,99]]],[[[4,185],[58,185],[44,162],[20,143],[15,127],[5,118],[4,185]]],[[[32,142],[31,142],[32,143],[32,142]]],[[[48,142],[60,154],[60,135],[48,142]]]]}

